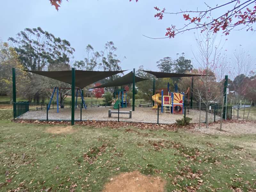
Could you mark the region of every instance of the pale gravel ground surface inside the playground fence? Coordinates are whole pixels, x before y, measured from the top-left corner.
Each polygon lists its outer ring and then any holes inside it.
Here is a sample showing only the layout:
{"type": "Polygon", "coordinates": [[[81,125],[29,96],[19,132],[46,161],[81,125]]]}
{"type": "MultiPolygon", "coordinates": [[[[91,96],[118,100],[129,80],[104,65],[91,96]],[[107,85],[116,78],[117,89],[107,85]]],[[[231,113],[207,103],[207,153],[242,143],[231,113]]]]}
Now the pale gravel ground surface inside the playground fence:
{"type": "MultiPolygon", "coordinates": [[[[23,115],[19,116],[17,119],[22,120],[43,120],[46,121],[46,109],[41,110],[31,110],[23,115]]],[[[103,107],[87,107],[87,109],[82,109],[82,116],[80,108],[75,110],[75,121],[118,121],[118,113],[112,114],[108,117],[108,111],[113,111],[113,106],[103,106],[103,107]]],[[[118,112],[118,110],[114,110],[118,112]]],[[[132,107],[120,108],[122,111],[132,111],[132,107]]],[[[199,113],[197,109],[189,109],[186,116],[192,118],[191,123],[199,122],[199,113]]],[[[57,113],[57,109],[50,109],[48,112],[49,121],[70,121],[71,109],[64,108],[60,109],[57,113]]],[[[176,120],[181,120],[184,117],[183,114],[170,114],[161,113],[161,108],[159,109],[159,124],[173,124],[176,120]]],[[[215,116],[216,121],[220,120],[220,116],[215,116]]],[[[209,114],[209,122],[214,122],[214,114],[209,114]]],[[[132,117],[129,118],[129,114],[119,114],[119,121],[127,122],[140,122],[140,123],[157,123],[157,109],[145,107],[135,107],[135,111],[132,111],[132,117]]],[[[205,122],[205,111],[201,110],[201,122],[205,122]]]]}

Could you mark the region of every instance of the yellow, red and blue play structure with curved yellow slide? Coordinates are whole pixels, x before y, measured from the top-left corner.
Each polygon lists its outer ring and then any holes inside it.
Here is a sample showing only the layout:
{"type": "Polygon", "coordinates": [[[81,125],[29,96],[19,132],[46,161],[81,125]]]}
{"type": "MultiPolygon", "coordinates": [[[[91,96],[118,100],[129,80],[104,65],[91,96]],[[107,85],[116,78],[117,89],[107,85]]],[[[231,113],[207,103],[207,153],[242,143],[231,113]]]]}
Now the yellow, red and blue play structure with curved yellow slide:
{"type": "MultiPolygon", "coordinates": [[[[178,84],[174,83],[174,92],[169,89],[170,85],[167,84],[167,95],[164,95],[164,90],[152,96],[152,100],[156,102],[153,109],[157,109],[158,105],[161,106],[162,113],[183,114],[184,113],[184,92],[178,93],[178,84]],[[161,97],[161,99],[159,99],[161,97]]],[[[188,89],[189,91],[189,89],[188,89]]],[[[187,93],[188,93],[187,91],[187,93]]]]}

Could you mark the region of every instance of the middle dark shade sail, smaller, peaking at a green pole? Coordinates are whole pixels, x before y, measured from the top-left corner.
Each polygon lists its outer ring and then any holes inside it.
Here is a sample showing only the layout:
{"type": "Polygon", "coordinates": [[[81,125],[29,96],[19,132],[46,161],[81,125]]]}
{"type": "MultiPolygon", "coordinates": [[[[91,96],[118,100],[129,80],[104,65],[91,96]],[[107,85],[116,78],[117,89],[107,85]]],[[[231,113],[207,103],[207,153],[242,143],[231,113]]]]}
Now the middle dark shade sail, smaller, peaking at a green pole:
{"type": "MultiPolygon", "coordinates": [[[[145,81],[148,79],[144,79],[144,78],[140,78],[135,76],[135,83],[136,82],[140,82],[140,81],[145,81]]],[[[97,87],[92,87],[91,89],[95,89],[95,88],[101,88],[101,87],[116,87],[116,86],[122,86],[122,85],[127,85],[127,84],[132,84],[133,83],[133,72],[131,71],[130,73],[114,80],[111,81],[109,83],[106,84],[102,84],[100,86],[97,87]]]]}

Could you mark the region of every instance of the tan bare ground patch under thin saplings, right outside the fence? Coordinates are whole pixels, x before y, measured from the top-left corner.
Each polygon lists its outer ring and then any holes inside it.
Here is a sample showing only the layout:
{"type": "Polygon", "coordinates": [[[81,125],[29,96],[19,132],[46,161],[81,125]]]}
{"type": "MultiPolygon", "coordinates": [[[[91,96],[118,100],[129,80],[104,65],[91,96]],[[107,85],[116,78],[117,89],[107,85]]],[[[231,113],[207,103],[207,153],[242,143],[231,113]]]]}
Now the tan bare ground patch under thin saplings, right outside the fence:
{"type": "Polygon", "coordinates": [[[210,124],[209,128],[206,129],[205,125],[199,129],[195,127],[196,132],[202,132],[206,134],[256,134],[256,123],[253,121],[243,121],[243,120],[232,120],[224,121],[222,123],[222,130],[220,131],[220,123],[210,124]]]}

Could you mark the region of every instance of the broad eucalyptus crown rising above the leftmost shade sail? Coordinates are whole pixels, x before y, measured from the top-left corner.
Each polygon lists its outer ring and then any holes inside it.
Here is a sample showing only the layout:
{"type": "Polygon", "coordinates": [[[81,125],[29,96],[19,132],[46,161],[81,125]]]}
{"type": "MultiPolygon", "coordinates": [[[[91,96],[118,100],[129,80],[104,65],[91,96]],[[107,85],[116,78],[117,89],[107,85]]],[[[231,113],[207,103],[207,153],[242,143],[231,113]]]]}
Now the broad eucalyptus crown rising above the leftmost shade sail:
{"type": "Polygon", "coordinates": [[[42,28],[25,28],[16,37],[9,37],[20,62],[29,70],[47,70],[51,65],[67,64],[75,49],[60,37],[42,28]]]}

